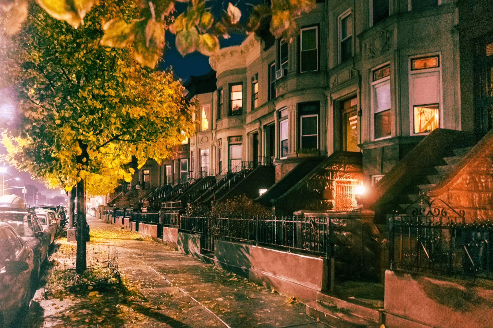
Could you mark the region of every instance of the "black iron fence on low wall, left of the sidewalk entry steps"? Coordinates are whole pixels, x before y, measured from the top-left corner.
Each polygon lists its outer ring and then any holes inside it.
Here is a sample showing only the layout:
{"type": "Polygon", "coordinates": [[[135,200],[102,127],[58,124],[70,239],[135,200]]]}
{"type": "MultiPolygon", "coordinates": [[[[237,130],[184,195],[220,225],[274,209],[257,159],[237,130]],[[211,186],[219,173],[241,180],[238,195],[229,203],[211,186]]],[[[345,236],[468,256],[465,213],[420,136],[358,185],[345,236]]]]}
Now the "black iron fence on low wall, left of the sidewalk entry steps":
{"type": "Polygon", "coordinates": [[[330,257],[331,219],[327,217],[213,218],[182,216],[179,229],[200,233],[202,249],[214,251],[214,240],[274,245],[330,257]]]}

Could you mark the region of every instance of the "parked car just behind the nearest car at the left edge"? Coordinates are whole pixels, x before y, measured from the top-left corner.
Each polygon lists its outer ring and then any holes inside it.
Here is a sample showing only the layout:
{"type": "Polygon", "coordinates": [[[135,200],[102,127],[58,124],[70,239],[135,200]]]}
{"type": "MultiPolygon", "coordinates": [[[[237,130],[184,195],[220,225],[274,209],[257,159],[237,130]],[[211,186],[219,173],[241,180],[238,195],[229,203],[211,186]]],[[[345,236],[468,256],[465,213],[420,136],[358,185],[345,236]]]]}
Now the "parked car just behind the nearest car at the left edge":
{"type": "Polygon", "coordinates": [[[33,283],[39,280],[41,264],[48,262],[50,236],[43,231],[34,213],[1,212],[0,220],[10,225],[34,252],[33,283]]]}

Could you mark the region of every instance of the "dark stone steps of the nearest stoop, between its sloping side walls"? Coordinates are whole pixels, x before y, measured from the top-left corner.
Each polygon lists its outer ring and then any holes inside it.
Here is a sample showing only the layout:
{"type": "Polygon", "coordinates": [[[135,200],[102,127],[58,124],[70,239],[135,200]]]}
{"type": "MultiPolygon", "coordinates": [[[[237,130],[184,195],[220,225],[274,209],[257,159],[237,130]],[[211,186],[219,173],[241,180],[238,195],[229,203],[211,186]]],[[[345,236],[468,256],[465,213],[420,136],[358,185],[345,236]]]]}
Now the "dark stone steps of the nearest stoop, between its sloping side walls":
{"type": "Polygon", "coordinates": [[[433,187],[442,181],[447,174],[454,170],[472,147],[464,147],[452,150],[452,156],[444,157],[445,165],[430,166],[425,169],[425,173],[414,179],[413,184],[408,185],[403,191],[408,192],[407,195],[397,195],[395,200],[402,209],[406,209],[414,203],[421,195],[426,194],[433,187]]]}

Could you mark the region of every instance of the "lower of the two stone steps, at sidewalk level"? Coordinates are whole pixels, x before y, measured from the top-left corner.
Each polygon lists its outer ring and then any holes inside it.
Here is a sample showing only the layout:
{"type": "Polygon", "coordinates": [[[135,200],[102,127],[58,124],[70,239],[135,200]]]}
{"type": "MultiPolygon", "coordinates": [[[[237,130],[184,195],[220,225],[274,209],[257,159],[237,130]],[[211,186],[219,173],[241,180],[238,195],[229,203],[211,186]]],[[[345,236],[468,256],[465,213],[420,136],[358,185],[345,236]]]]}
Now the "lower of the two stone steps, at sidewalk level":
{"type": "Polygon", "coordinates": [[[307,303],[307,315],[336,328],[377,328],[380,326],[378,323],[354,315],[346,309],[327,306],[319,301],[307,303]]]}

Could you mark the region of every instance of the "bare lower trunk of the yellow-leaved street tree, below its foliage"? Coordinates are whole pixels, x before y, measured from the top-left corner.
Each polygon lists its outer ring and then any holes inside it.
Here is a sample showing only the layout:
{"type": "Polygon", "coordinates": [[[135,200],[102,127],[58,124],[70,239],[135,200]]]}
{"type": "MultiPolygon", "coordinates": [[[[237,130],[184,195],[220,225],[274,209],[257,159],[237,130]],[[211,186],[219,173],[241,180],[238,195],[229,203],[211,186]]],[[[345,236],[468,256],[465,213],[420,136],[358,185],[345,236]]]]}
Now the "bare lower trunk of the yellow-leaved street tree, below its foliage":
{"type": "Polygon", "coordinates": [[[77,257],[75,272],[84,273],[86,270],[86,197],[84,180],[77,182],[77,257]]]}

